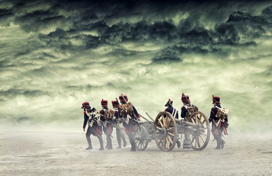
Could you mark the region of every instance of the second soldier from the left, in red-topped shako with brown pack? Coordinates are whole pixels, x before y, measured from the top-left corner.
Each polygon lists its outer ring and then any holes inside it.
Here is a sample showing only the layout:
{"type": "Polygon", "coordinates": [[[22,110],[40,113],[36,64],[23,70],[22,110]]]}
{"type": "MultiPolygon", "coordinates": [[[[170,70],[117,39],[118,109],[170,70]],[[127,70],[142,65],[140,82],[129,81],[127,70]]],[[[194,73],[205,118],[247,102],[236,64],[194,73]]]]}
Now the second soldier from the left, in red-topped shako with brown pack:
{"type": "Polygon", "coordinates": [[[108,101],[107,100],[101,100],[101,106],[102,106],[102,110],[100,110],[100,114],[101,114],[101,121],[103,123],[105,123],[105,125],[103,125],[103,131],[104,131],[104,134],[107,136],[107,144],[106,144],[106,147],[107,149],[112,149],[112,143],[111,143],[111,134],[112,134],[112,126],[110,124],[109,121],[107,121],[105,118],[104,118],[104,114],[106,111],[108,111],[108,101]]]}

